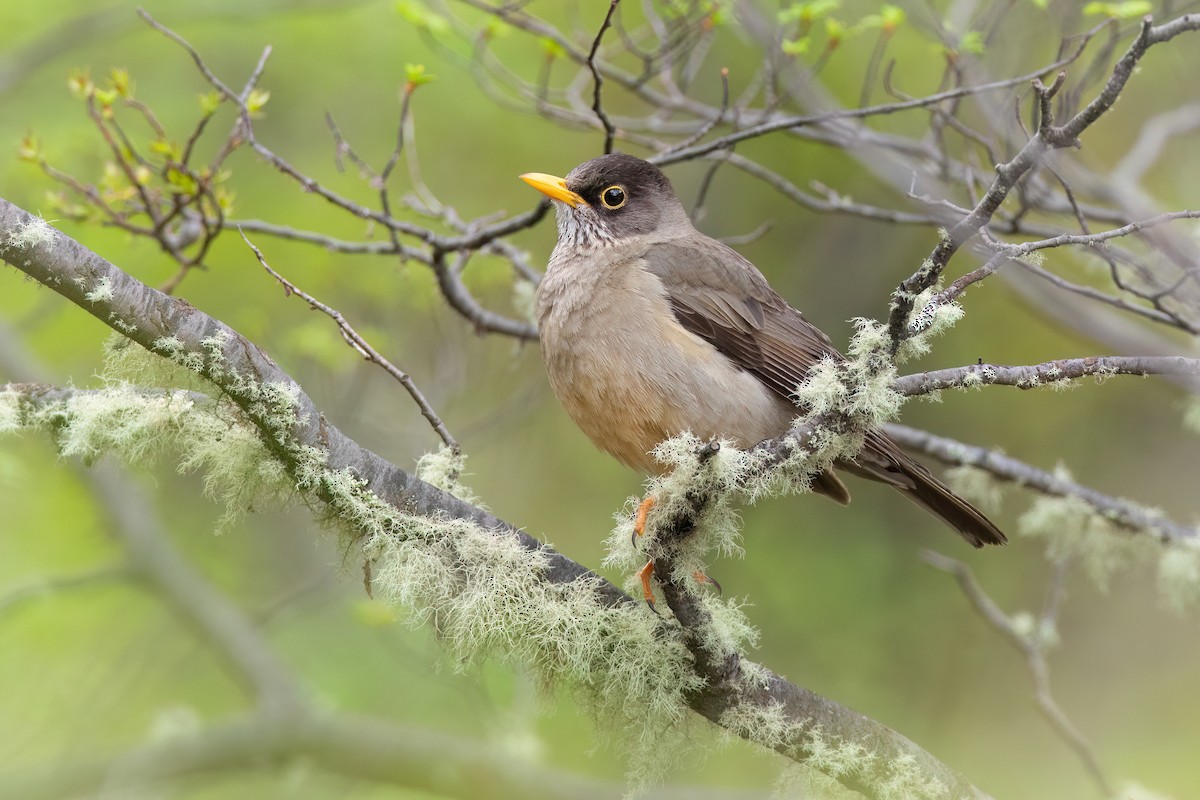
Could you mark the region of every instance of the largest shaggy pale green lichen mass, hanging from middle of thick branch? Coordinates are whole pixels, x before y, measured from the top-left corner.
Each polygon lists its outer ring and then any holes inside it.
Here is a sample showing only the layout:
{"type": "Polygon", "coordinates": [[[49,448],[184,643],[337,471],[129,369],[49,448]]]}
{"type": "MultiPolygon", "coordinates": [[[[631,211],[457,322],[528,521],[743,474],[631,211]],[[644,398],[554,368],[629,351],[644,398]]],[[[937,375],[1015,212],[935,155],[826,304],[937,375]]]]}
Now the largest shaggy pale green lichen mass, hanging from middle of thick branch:
{"type": "Polygon", "coordinates": [[[379,595],[408,609],[412,624],[432,625],[461,668],[492,656],[529,666],[544,685],[578,686],[607,727],[623,732],[631,781],[661,776],[670,766],[664,738],[684,722],[685,694],[702,680],[658,618],[604,606],[592,581],[547,583],[546,554],[515,539],[384,513],[394,530],[364,542],[379,595]]]}

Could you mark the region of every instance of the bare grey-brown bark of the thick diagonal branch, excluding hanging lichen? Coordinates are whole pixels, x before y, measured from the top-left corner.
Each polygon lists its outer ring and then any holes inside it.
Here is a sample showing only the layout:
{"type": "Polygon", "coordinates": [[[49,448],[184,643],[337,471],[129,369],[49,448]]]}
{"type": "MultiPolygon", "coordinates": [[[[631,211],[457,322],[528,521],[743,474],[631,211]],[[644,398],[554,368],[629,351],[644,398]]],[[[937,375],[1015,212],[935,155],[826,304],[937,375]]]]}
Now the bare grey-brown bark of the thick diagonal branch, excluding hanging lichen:
{"type": "MultiPolygon", "coordinates": [[[[300,386],[236,331],[186,302],[155,291],[2,199],[0,258],[146,349],[194,368],[241,408],[263,443],[298,479],[304,470],[304,452],[314,449],[323,455],[328,470],[334,474],[349,471],[360,479],[361,483],[355,483],[354,492],[370,493],[408,515],[461,519],[493,536],[511,537],[522,548],[544,557],[545,567],[538,576],[540,581],[560,585],[587,582],[595,603],[628,609],[624,613],[629,614],[648,613],[611,583],[533,536],[424,483],[365,450],[326,422],[300,386]],[[287,425],[281,425],[270,409],[264,409],[262,396],[250,389],[268,385],[280,387],[292,398],[287,425]]],[[[312,477],[305,476],[304,480],[312,477]]],[[[337,499],[325,485],[310,486],[308,491],[325,503],[337,499]]],[[[334,511],[337,511],[336,505],[334,511]]],[[[397,531],[397,535],[402,534],[397,531]]],[[[661,628],[667,638],[677,636],[666,622],[661,624],[661,628]]],[[[703,646],[703,643],[690,644],[692,648],[703,646]]],[[[692,650],[694,656],[698,652],[692,650]]],[[[923,776],[944,786],[948,796],[983,796],[962,776],[886,726],[794,686],[740,657],[712,664],[697,657],[697,676],[706,688],[688,697],[692,710],[726,726],[731,724],[727,715],[734,710],[742,712],[743,720],[748,711],[774,720],[782,714],[791,724],[791,734],[770,742],[770,746],[792,758],[805,758],[818,736],[836,738],[877,753],[880,758],[872,762],[877,763],[876,766],[853,775],[834,776],[868,796],[881,796],[878,787],[888,778],[888,770],[896,764],[896,759],[906,759],[905,763],[913,764],[923,776]]],[[[748,738],[754,734],[752,728],[744,727],[734,732],[748,738]]]]}

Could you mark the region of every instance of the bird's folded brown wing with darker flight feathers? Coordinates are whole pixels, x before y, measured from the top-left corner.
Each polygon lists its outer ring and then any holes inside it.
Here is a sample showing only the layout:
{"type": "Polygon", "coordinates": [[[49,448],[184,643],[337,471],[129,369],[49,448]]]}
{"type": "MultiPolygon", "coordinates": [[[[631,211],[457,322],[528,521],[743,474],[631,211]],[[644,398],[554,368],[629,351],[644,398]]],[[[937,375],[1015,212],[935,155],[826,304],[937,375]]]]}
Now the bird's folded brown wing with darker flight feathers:
{"type": "Polygon", "coordinates": [[[828,336],[725,245],[707,237],[661,242],[642,259],[679,324],[780,397],[794,401],[796,386],[821,359],[841,359],[828,336]]]}

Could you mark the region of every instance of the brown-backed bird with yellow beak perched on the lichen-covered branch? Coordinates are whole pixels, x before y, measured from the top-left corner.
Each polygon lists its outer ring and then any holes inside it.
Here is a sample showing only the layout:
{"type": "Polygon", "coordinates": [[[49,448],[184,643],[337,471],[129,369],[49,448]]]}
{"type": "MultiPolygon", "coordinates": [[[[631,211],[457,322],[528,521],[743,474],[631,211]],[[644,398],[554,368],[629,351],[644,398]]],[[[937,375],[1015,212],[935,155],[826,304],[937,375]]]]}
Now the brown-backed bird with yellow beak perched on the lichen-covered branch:
{"type": "MultiPolygon", "coordinates": [[[[648,161],[613,152],[565,178],[521,179],[551,198],[558,228],[535,295],[550,385],[583,433],[628,467],[660,473],[652,451],[683,432],[738,447],[778,437],[804,410],[794,392],[809,369],[845,360],[754,264],[695,228],[648,161]]],[[[882,431],[835,468],[898,489],[974,547],[1007,541],[882,431]]],[[[832,469],[812,491],[850,503],[832,469]]],[[[647,498],[638,509],[638,531],[652,507],[647,498]]]]}

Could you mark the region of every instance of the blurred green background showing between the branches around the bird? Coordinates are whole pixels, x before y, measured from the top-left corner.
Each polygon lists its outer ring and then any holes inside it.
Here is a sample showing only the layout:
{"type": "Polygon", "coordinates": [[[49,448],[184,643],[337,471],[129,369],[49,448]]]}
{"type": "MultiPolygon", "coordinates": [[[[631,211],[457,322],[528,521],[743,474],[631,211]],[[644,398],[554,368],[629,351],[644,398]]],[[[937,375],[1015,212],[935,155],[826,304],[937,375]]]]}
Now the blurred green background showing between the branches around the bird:
{"type": "MultiPolygon", "coordinates": [[[[607,7],[599,1],[530,5],[535,13],[578,26],[584,43],[607,7]]],[[[916,5],[928,10],[944,4],[916,5]]],[[[1024,38],[996,47],[996,68],[1018,74],[1050,61],[1061,31],[1043,24],[1039,14],[1045,12],[1032,2],[1000,5],[1020,16],[1014,28],[1024,38]]],[[[436,76],[413,98],[421,173],[463,217],[532,207],[536,198],[517,174],[564,174],[601,145],[596,132],[566,131],[491,102],[470,74],[469,48],[422,32],[394,2],[145,7],[188,38],[230,85],[241,85],[270,44],[274,53],[260,85],[271,97],[258,136],[302,172],[362,203],[372,203],[374,193],[353,169],[337,170],[323,116],[330,113],[360,155],[382,163],[395,140],[408,64],[422,64],[436,76]]],[[[83,0],[0,5],[0,196],[37,211],[48,207],[46,193],[58,188],[17,158],[18,144],[30,132],[54,166],[85,182],[98,180],[107,152],[83,103],[67,91],[72,70],[90,70],[98,79],[110,67],[127,68],[138,97],[176,137],[190,130],[197,95],[208,85],[187,55],[148,29],[133,8],[83,0]]],[[[913,13],[917,30],[898,36],[890,50],[899,59],[896,76],[913,94],[935,90],[940,76],[940,60],[931,58],[930,40],[919,31],[920,17],[913,13]]],[[[757,53],[732,32],[714,47],[709,64],[728,65],[737,88],[754,71],[757,53]]],[[[1194,67],[1194,58],[1189,62],[1181,54],[1189,48],[1198,49],[1194,37],[1147,59],[1118,109],[1087,134],[1079,157],[1104,163],[1128,148],[1144,116],[1194,101],[1194,86],[1180,79],[1187,74],[1181,70],[1194,67]]],[[[518,34],[499,41],[497,49],[530,77],[545,58],[535,40],[518,34]]],[[[856,102],[869,50],[869,42],[852,42],[822,73],[845,102],[856,102]]],[[[564,68],[562,76],[569,74],[564,68]]],[[[697,92],[718,97],[715,78],[700,82],[697,92]]],[[[925,122],[911,116],[888,124],[916,132],[925,122]]],[[[223,132],[228,124],[223,116],[215,126],[223,132]]],[[[816,144],[776,138],[739,151],[802,186],[815,179],[863,201],[906,204],[851,157],[816,144]]],[[[1189,197],[1194,201],[1200,180],[1195,152],[1172,151],[1169,164],[1152,173],[1148,187],[1164,207],[1186,205],[1189,197]]],[[[352,239],[371,235],[248,151],[238,152],[229,167],[236,217],[352,239]]],[[[685,201],[695,197],[703,169],[684,164],[668,170],[685,201]]],[[[737,236],[763,219],[773,221],[770,230],[739,249],[839,345],[848,337],[846,320],[886,313],[890,289],[936,240],[930,229],[815,215],[733,170],[719,173],[701,227],[737,236]]],[[[60,227],[151,285],[174,273],[150,242],[96,225],[60,227]]],[[[547,219],[516,241],[540,265],[553,236],[547,219]]],[[[256,243],[275,269],[342,311],[414,377],[463,444],[467,482],[497,515],[599,567],[612,515],[640,492],[640,477],[575,429],[550,393],[535,345],[476,336],[445,307],[420,264],[340,255],[266,236],[257,236],[256,243]]],[[[344,347],[326,318],[284,297],[236,235],[222,236],[206,261],[211,269],[190,275],[179,296],[262,345],[330,421],[404,468],[436,446],[400,387],[344,347]]],[[[958,275],[970,264],[962,257],[952,269],[958,275]]],[[[480,258],[467,277],[485,305],[511,313],[505,266],[480,258]]],[[[1027,308],[998,279],[973,290],[966,307],[965,320],[937,342],[935,353],[906,369],[977,359],[1033,363],[1106,350],[1027,308]]],[[[25,349],[55,383],[94,383],[107,329],[88,314],[6,270],[0,318],[0,333],[10,339],[6,353],[25,349]]],[[[10,359],[0,367],[0,380],[31,377],[20,372],[10,359]]],[[[1187,522],[1196,512],[1200,463],[1196,438],[1181,426],[1182,407],[1183,396],[1164,381],[1116,379],[1064,393],[996,387],[947,395],[941,404],[910,404],[904,421],[1002,446],[1046,469],[1062,463],[1086,485],[1187,522]]],[[[245,706],[239,686],[203,644],[137,585],[102,582],[22,595],[20,602],[2,600],[48,578],[119,560],[80,469],[58,459],[53,443],[42,437],[6,440],[0,449],[2,774],[103,756],[162,735],[164,728],[202,724],[245,706]]],[[[221,509],[202,498],[199,477],[176,475],[167,461],[132,480],[152,497],[175,547],[262,625],[322,704],[457,733],[511,748],[514,759],[619,781],[618,748],[595,746],[593,723],[570,692],[547,699],[520,670],[503,664],[456,673],[428,630],[412,630],[402,624],[403,609],[391,614],[365,599],[356,561],[320,535],[304,509],[256,510],[235,529],[214,536],[221,509]]],[[[752,657],[902,732],[997,796],[1098,796],[1080,762],[1036,710],[1024,661],[980,621],[948,577],[918,559],[923,548],[964,559],[1006,609],[1037,612],[1050,573],[1042,545],[1014,536],[1007,548],[967,552],[900,495],[862,482],[851,489],[856,501],[848,509],[810,495],[744,510],[746,558],[719,561],[713,573],[727,594],[751,603],[746,613],[762,631],[762,646],[752,657]]],[[[997,522],[1015,533],[1016,517],[1031,498],[1015,489],[1006,498],[997,522]]],[[[617,583],[624,578],[608,577],[617,583]]],[[[1164,612],[1152,570],[1144,566],[1121,572],[1106,593],[1073,572],[1068,589],[1063,644],[1051,660],[1061,705],[1118,781],[1134,780],[1170,796],[1200,795],[1194,616],[1164,612]]],[[[770,786],[775,769],[763,765],[774,764],[774,757],[742,742],[714,748],[719,736],[702,721],[689,735],[695,753],[674,781],[770,786]]],[[[163,796],[426,795],[298,764],[193,781],[163,796]]]]}

